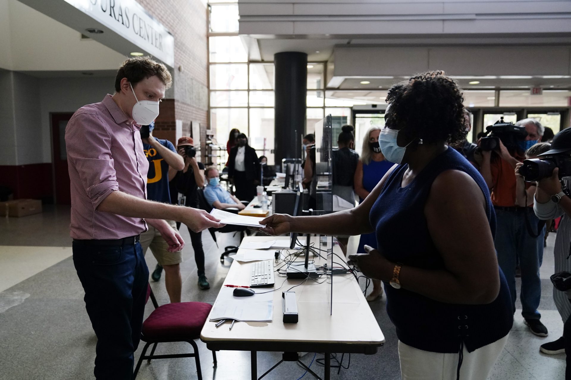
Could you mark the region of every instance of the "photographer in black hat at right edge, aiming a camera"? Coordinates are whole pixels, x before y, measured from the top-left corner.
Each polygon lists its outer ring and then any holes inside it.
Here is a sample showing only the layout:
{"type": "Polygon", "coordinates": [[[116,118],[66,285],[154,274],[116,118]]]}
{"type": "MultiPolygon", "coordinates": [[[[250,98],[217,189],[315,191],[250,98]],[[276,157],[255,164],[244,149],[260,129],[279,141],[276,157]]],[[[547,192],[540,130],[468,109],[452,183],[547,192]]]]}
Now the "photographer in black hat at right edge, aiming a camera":
{"type": "MultiPolygon", "coordinates": [[[[538,181],[534,197],[533,209],[538,218],[543,220],[556,219],[561,223],[557,230],[555,247],[555,273],[559,277],[571,275],[571,198],[568,188],[571,186],[571,129],[564,129],[553,138],[551,149],[538,155],[538,160],[524,161],[520,173],[526,181],[538,181]],[[564,189],[564,186],[565,188],[564,189]],[[566,275],[561,275],[561,272],[566,275]]],[[[555,275],[555,276],[557,276],[555,275]]],[[[553,278],[553,276],[552,276],[553,278]]],[[[564,281],[568,283],[569,281],[564,281]]],[[[565,284],[562,284],[565,285],[565,284]]],[[[545,354],[567,354],[567,369],[565,377],[571,379],[571,291],[569,285],[561,287],[556,284],[553,288],[553,300],[565,323],[563,337],[556,341],[541,345],[545,354]]]]}

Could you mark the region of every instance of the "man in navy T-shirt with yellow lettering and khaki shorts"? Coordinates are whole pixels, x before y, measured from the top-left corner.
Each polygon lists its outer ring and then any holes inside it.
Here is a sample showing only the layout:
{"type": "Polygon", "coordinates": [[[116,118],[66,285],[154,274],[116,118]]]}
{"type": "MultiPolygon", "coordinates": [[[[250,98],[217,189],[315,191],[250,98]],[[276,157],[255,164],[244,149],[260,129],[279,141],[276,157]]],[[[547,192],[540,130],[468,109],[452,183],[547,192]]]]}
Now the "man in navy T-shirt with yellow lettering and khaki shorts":
{"type": "MultiPolygon", "coordinates": [[[[170,191],[168,189],[168,167],[175,170],[184,168],[183,158],[176,153],[174,145],[168,140],[160,140],[152,136],[155,122],[150,125],[143,125],[140,129],[141,141],[143,141],[144,154],[148,160],[147,173],[147,199],[162,203],[171,203],[170,191]]],[[[174,220],[167,220],[168,224],[176,231],[174,220]]],[[[180,237],[180,235],[178,235],[180,237]]],[[[168,244],[160,235],[160,231],[152,226],[148,226],[148,231],[143,232],[140,237],[140,244],[143,254],[147,248],[151,248],[158,264],[152,273],[152,279],[158,281],[160,272],[164,268],[164,283],[167,288],[168,297],[172,302],[180,302],[182,289],[182,277],[180,276],[180,263],[182,263],[182,251],[169,252],[168,244]],[[157,276],[158,273],[158,276],[157,276]]]]}

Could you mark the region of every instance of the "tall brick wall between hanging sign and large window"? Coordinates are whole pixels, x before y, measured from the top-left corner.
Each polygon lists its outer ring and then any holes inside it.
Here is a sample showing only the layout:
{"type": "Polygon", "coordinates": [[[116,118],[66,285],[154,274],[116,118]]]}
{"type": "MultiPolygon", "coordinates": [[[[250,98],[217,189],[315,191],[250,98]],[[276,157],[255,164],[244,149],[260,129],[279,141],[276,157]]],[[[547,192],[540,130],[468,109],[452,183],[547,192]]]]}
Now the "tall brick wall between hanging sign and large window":
{"type": "Polygon", "coordinates": [[[183,136],[191,136],[191,121],[200,122],[204,152],[208,122],[208,51],[206,6],[202,0],[138,0],[175,38],[174,99],[160,104],[156,136],[174,144],[175,120],[182,120],[183,136]]]}

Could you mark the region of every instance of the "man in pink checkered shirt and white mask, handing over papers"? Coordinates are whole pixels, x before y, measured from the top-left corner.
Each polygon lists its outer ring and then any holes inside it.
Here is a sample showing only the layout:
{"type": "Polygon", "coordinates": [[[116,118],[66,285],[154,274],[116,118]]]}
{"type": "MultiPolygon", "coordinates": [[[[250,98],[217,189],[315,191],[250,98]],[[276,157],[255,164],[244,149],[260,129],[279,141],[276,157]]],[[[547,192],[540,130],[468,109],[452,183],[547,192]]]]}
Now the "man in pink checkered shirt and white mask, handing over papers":
{"type": "Polygon", "coordinates": [[[73,260],[98,338],[97,379],[132,377],[148,284],[139,243],[146,223],[172,252],[184,241],[164,219],[196,232],[223,226],[206,211],[146,199],[148,162],[139,129],[158,115],[171,83],[163,64],[128,59],[117,72],[115,94],[78,109],[66,127],[73,260]]]}

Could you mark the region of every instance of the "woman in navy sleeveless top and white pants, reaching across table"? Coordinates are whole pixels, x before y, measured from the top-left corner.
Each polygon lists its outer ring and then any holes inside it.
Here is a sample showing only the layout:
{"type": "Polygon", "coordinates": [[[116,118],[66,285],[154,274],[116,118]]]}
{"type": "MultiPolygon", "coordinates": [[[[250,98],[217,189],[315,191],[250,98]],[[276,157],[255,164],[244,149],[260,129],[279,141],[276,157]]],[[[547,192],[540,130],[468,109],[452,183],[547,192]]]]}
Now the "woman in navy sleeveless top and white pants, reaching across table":
{"type": "Polygon", "coordinates": [[[513,324],[488,187],[448,146],[467,134],[463,100],[442,71],[393,85],[380,145],[396,165],[367,199],[335,214],[260,222],[272,235],[375,232],[378,249],[349,264],[385,282],[404,380],[485,380],[513,324]]]}

